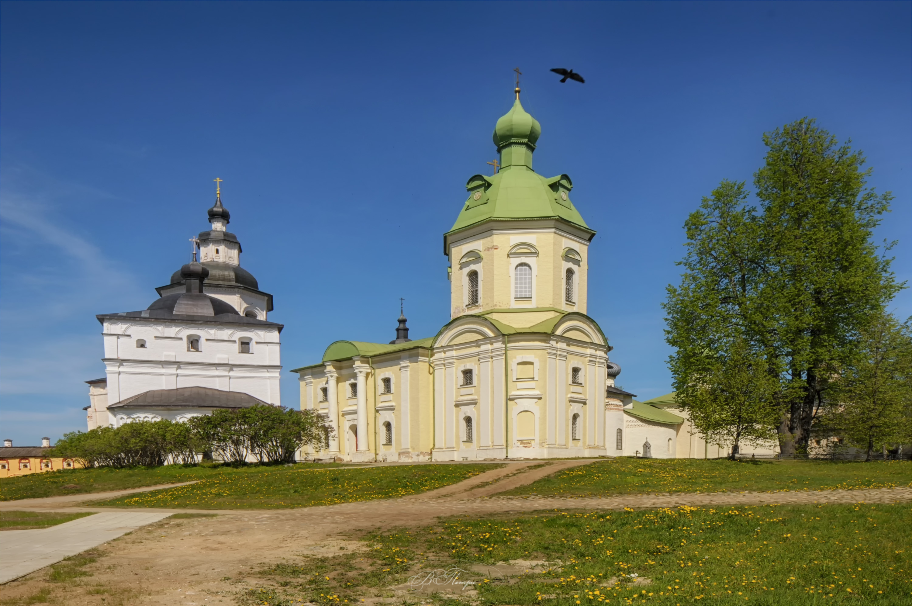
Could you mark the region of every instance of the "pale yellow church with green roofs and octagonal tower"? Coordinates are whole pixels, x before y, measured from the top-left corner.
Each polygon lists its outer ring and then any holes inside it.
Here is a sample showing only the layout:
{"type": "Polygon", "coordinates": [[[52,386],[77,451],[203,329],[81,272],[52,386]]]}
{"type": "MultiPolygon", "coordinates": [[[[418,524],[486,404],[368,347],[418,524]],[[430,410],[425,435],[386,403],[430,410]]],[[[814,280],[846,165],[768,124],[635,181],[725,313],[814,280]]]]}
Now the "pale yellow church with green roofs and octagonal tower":
{"type": "Polygon", "coordinates": [[[620,367],[586,315],[596,232],[573,204],[569,176],[534,172],[541,127],[515,92],[493,133],[500,170],[469,179],[443,235],[451,321],[433,337],[409,340],[400,317],[395,340],[339,340],[319,363],[293,371],[301,408],[333,428],[316,456],[679,455],[684,419],[615,387],[620,367]]]}

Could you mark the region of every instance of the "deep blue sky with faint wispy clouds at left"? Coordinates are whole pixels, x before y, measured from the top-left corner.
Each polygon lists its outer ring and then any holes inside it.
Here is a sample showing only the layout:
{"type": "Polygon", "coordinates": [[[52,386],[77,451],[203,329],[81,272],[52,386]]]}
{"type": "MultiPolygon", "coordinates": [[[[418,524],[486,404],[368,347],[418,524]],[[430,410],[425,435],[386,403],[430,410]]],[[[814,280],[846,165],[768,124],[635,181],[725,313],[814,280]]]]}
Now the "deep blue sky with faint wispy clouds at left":
{"type": "MultiPolygon", "coordinates": [[[[495,157],[513,72],[598,231],[589,315],[647,399],[685,217],[751,182],[762,133],[811,116],[892,191],[910,274],[910,4],[3,3],[0,432],[85,430],[97,313],[142,309],[221,177],[242,265],[275,295],[285,370],[337,339],[449,319],[443,232],[495,157]],[[549,68],[586,84],[559,84],[549,68]]],[[[908,290],[895,301],[907,315],[908,290]]],[[[285,372],[283,403],[298,402],[285,372]]]]}

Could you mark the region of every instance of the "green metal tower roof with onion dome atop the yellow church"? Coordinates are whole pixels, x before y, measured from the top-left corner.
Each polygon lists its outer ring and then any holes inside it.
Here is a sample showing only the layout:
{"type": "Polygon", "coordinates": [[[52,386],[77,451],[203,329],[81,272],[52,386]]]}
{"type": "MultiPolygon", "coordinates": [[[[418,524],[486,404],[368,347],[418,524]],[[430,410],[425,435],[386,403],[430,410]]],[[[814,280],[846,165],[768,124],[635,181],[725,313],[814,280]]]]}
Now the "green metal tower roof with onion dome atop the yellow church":
{"type": "Polygon", "coordinates": [[[561,174],[548,178],[532,170],[534,143],[540,132],[538,121],[516,99],[513,109],[497,121],[494,130],[501,170],[494,175],[476,174],[466,183],[469,197],[456,223],[443,236],[444,247],[453,232],[485,221],[559,219],[596,234],[570,201],[570,177],[561,174]]]}

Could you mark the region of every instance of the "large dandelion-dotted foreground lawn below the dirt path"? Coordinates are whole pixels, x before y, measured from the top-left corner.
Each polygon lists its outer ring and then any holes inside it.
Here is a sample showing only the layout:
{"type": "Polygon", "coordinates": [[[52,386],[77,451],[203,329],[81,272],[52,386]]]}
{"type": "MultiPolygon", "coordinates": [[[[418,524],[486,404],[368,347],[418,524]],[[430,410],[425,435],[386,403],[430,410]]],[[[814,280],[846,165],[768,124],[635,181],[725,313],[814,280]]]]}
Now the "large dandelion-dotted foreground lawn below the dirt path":
{"type": "MultiPolygon", "coordinates": [[[[910,510],[901,505],[679,507],[458,517],[368,536],[368,550],[263,569],[242,603],[908,604],[910,510]],[[545,560],[531,572],[528,563],[545,560]],[[491,573],[485,565],[502,564],[491,573]],[[457,567],[409,595],[409,578],[457,567]],[[510,573],[509,569],[513,568],[510,573]],[[459,572],[461,570],[461,572],[459,572]],[[488,573],[484,571],[488,570],[488,573]]],[[[247,581],[249,583],[249,580],[247,581]]]]}

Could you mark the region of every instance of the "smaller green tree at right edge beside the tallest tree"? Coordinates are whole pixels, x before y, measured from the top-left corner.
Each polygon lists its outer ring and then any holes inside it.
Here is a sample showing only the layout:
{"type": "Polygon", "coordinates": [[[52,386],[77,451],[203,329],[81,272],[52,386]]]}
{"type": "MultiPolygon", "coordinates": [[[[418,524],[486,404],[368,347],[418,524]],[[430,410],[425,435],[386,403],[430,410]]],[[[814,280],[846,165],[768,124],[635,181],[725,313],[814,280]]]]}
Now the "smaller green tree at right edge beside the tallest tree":
{"type": "Polygon", "coordinates": [[[827,434],[864,448],[912,440],[912,331],[890,314],[878,314],[860,336],[859,347],[834,381],[833,404],[824,413],[827,434]]]}

